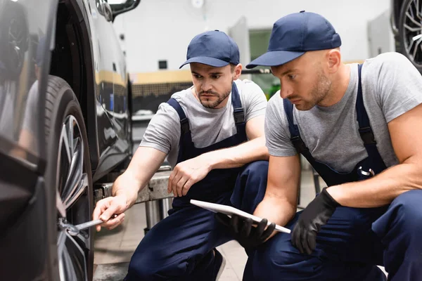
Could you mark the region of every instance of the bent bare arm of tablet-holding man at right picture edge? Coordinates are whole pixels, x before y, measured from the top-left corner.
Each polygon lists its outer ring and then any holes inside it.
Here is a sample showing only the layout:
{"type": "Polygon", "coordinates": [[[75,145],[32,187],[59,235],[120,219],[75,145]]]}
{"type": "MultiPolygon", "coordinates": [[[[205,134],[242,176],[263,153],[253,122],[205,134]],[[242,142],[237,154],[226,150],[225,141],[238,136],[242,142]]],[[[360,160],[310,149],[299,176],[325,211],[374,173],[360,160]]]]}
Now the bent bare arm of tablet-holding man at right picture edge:
{"type": "Polygon", "coordinates": [[[330,195],[347,207],[380,207],[408,190],[422,189],[422,105],[388,124],[399,164],[366,181],[328,188],[330,195]]]}

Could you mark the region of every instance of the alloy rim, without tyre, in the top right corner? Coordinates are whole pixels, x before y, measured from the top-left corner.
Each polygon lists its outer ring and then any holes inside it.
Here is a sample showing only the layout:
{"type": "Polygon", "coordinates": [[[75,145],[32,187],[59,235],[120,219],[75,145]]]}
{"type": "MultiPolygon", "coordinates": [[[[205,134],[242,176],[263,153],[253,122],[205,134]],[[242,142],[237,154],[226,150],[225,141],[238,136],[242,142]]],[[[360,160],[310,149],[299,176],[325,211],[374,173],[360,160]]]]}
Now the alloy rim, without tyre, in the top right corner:
{"type": "Polygon", "coordinates": [[[422,1],[407,4],[404,16],[404,50],[415,65],[422,67],[422,1]]]}

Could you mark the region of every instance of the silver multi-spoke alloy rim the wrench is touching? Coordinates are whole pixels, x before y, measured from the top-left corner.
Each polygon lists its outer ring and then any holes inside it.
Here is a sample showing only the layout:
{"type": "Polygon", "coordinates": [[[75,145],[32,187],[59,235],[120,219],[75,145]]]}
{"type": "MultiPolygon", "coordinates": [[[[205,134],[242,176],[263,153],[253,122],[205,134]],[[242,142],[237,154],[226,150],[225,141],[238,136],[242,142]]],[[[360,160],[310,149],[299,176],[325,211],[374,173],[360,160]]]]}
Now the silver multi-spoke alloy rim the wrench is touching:
{"type": "Polygon", "coordinates": [[[72,236],[63,228],[63,223],[77,225],[90,220],[85,148],[79,124],[72,115],[66,117],[62,125],[58,148],[56,207],[60,281],[88,280],[87,251],[91,249],[89,230],[72,236]]]}

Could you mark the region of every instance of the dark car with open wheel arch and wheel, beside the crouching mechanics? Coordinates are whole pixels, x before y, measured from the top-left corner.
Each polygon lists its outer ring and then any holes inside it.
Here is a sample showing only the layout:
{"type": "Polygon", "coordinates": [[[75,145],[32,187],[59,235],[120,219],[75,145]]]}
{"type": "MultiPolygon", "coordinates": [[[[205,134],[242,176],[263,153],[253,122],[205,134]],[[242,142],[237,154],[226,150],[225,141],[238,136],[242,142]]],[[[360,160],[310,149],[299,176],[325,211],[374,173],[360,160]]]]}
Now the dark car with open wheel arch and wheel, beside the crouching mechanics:
{"type": "Polygon", "coordinates": [[[0,0],[1,280],[92,278],[93,231],[67,229],[132,155],[113,20],[139,1],[0,0]]]}

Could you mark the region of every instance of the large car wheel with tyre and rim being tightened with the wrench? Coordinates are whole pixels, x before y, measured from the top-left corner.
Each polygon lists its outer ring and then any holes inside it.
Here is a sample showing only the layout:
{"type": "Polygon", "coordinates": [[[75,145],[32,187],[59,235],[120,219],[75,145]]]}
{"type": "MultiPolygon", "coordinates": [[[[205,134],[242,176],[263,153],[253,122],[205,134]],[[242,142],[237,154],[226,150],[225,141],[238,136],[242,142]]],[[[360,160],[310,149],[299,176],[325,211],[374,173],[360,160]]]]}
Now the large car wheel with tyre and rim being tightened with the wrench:
{"type": "Polygon", "coordinates": [[[52,216],[53,280],[92,280],[94,230],[72,236],[65,224],[91,220],[94,195],[84,118],[68,83],[50,76],[46,93],[46,186],[56,206],[52,216]]]}

